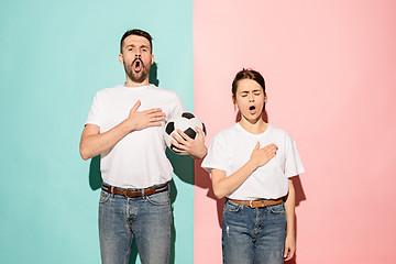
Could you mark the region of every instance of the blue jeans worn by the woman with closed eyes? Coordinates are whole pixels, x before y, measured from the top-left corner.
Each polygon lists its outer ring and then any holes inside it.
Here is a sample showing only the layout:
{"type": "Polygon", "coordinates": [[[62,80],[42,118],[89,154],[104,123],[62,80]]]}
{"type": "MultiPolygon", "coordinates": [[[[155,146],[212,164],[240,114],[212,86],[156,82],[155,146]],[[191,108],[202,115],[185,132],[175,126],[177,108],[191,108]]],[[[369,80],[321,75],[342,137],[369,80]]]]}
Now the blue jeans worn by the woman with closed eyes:
{"type": "Polygon", "coordinates": [[[285,205],[251,208],[227,200],[223,210],[222,251],[226,264],[284,263],[285,205]]]}

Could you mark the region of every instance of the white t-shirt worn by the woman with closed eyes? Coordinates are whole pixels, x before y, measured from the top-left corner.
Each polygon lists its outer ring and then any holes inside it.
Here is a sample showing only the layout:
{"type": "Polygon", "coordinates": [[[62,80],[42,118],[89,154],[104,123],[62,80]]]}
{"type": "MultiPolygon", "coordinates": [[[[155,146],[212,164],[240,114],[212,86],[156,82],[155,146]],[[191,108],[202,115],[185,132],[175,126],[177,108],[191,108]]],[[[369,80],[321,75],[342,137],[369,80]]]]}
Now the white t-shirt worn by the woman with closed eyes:
{"type": "Polygon", "coordinates": [[[260,148],[275,143],[278,147],[275,157],[254,170],[228,198],[254,200],[284,197],[288,193],[287,179],[305,172],[295,141],[287,132],[271,124],[261,134],[252,134],[239,123],[220,131],[212,139],[201,166],[209,173],[211,168],[224,170],[228,177],[250,160],[257,142],[260,148]]]}

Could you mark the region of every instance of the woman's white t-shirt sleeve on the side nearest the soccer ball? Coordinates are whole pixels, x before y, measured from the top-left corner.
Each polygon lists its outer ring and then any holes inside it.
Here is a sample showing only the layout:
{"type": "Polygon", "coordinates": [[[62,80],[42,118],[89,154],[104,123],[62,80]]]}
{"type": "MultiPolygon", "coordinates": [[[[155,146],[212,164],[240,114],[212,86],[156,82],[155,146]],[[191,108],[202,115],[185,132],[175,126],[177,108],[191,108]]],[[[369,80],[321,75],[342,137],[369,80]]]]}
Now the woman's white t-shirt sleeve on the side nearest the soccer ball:
{"type": "Polygon", "coordinates": [[[219,134],[211,140],[208,154],[204,158],[201,167],[209,173],[211,173],[212,168],[227,172],[226,144],[219,134]]]}

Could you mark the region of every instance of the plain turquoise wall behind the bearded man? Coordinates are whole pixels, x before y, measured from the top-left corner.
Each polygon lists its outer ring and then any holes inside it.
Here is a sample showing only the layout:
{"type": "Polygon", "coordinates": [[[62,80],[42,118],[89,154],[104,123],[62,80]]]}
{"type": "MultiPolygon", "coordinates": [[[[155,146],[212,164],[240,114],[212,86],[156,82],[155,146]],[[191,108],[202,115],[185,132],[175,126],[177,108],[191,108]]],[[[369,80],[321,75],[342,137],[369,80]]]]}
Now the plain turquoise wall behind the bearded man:
{"type": "MultiPolygon", "coordinates": [[[[84,122],[96,91],[124,81],[119,42],[134,28],[154,37],[160,86],[194,110],[193,2],[2,1],[0,26],[0,262],[99,263],[84,122]]],[[[172,160],[172,260],[193,263],[193,162],[172,160]]]]}

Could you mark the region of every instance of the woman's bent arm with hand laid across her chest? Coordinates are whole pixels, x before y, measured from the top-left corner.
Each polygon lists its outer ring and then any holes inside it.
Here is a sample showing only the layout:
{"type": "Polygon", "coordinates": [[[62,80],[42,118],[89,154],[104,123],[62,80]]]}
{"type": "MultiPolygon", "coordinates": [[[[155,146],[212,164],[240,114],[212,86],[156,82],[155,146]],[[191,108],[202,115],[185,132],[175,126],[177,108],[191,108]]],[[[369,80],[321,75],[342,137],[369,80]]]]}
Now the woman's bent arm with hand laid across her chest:
{"type": "Polygon", "coordinates": [[[224,170],[212,168],[211,178],[216,197],[221,199],[238,189],[257,167],[270,162],[276,155],[276,151],[277,146],[275,144],[270,144],[260,148],[260,143],[257,142],[251,158],[232,175],[226,177],[224,170]]]}

